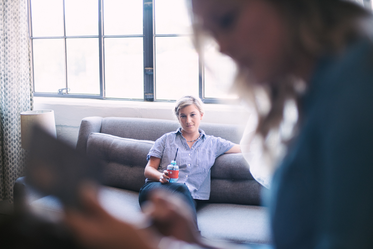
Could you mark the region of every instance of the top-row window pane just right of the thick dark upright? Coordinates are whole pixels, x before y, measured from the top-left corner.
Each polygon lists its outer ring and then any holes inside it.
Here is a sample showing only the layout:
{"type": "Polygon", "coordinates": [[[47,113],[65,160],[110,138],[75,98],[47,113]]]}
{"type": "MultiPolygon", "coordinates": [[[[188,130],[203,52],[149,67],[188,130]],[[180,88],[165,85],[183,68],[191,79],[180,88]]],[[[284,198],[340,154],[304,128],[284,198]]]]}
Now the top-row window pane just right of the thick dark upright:
{"type": "Polygon", "coordinates": [[[156,34],[191,34],[185,0],[154,0],[156,34]]]}

